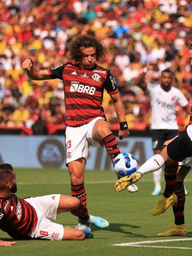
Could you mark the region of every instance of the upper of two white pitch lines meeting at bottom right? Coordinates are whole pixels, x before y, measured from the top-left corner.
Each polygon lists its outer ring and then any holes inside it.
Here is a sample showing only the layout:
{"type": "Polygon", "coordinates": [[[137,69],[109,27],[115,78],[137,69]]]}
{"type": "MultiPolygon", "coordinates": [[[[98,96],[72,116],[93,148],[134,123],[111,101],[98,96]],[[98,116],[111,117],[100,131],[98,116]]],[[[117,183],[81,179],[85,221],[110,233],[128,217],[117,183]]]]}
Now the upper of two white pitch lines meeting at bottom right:
{"type": "MultiPolygon", "coordinates": [[[[113,244],[115,246],[135,246],[135,247],[146,247],[141,244],[155,244],[155,243],[165,243],[165,242],[176,242],[176,241],[190,241],[192,238],[182,238],[182,239],[163,239],[163,240],[148,240],[148,241],[138,241],[138,242],[131,242],[131,243],[122,243],[122,244],[113,244]]],[[[151,246],[148,246],[151,247],[151,246]]],[[[168,247],[170,248],[170,247],[168,247]]],[[[178,247],[181,248],[181,247],[178,247]]],[[[189,248],[189,247],[183,247],[189,248]]],[[[192,248],[190,248],[192,249],[192,248]]]]}

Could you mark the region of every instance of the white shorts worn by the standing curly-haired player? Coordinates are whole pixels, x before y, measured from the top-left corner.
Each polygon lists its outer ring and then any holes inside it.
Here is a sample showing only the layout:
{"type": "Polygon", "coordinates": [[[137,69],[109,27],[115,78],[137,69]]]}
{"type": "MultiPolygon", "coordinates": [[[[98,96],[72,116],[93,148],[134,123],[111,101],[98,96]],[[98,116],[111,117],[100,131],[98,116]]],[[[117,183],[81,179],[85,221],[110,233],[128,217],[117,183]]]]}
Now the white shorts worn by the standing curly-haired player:
{"type": "Polygon", "coordinates": [[[86,125],[79,127],[67,126],[65,131],[66,145],[66,165],[74,160],[84,157],[87,160],[89,145],[103,147],[104,143],[99,143],[92,138],[92,131],[95,122],[102,117],[96,117],[86,125]]]}

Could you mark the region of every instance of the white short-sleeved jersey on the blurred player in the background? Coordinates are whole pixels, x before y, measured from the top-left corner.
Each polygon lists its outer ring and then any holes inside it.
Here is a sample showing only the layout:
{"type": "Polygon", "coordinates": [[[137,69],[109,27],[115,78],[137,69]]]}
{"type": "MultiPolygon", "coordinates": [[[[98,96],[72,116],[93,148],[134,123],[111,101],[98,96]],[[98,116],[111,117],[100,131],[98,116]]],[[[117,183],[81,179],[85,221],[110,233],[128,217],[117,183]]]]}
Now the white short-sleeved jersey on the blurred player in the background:
{"type": "Polygon", "coordinates": [[[176,105],[185,107],[188,104],[184,94],[175,87],[165,91],[160,84],[148,84],[147,90],[151,101],[151,129],[177,130],[176,105]]]}

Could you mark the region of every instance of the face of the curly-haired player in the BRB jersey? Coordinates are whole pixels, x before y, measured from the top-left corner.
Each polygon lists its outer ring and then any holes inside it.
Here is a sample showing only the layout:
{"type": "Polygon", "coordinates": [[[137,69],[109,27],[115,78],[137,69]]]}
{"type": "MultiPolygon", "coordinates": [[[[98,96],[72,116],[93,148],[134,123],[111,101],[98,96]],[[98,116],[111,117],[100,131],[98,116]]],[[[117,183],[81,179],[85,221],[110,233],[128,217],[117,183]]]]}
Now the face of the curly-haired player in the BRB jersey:
{"type": "Polygon", "coordinates": [[[96,62],[96,49],[93,47],[84,48],[81,47],[82,58],[79,61],[80,67],[90,69],[95,66],[96,62]]]}

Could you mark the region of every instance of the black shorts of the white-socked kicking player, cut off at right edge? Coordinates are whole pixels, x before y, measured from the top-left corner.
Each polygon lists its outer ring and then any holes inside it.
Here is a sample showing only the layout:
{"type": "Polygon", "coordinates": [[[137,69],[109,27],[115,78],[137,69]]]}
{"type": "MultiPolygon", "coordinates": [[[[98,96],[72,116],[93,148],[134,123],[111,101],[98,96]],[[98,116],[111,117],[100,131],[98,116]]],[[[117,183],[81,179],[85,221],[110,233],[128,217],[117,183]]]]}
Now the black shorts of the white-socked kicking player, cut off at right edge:
{"type": "Polygon", "coordinates": [[[167,154],[172,160],[179,162],[186,157],[192,157],[192,141],[186,131],[167,145],[167,154]]]}

